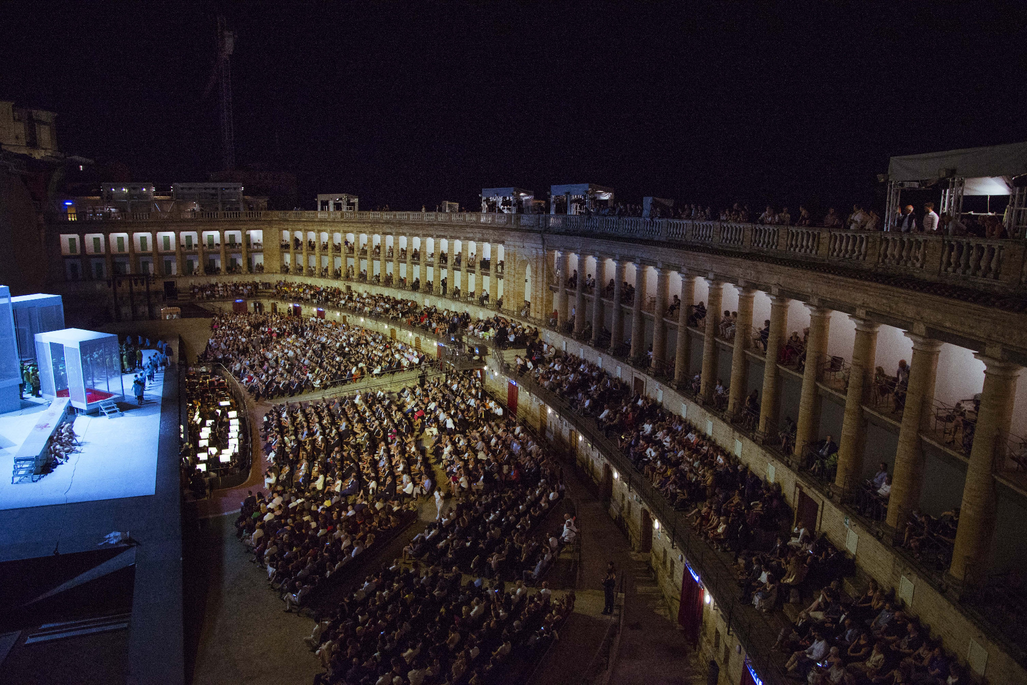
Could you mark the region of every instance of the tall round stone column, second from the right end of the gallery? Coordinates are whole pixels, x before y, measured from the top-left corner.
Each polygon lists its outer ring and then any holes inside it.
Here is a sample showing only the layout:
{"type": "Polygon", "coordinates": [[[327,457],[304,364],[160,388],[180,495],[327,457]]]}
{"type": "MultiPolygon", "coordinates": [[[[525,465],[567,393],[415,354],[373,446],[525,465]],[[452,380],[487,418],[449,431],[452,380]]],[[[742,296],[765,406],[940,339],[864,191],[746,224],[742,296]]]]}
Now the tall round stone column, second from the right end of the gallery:
{"type": "Polygon", "coordinates": [[[906,387],[906,407],[899,428],[899,446],[896,448],[895,475],[891,495],[888,498],[887,524],[892,528],[906,523],[910,512],[920,503],[923,486],[923,447],[920,431],[930,419],[935,399],[935,375],[938,371],[940,340],[906,332],[913,340],[913,358],[909,367],[906,387]]]}

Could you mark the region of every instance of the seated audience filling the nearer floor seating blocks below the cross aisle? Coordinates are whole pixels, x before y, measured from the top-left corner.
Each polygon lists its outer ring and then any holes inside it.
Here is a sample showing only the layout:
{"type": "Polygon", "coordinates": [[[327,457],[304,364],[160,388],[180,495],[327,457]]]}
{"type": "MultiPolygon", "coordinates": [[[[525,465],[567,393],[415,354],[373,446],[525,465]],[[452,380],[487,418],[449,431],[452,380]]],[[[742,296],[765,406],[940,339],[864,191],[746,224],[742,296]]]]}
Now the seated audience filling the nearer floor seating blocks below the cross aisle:
{"type": "Polygon", "coordinates": [[[573,594],[558,600],[542,583],[529,595],[527,583],[576,528],[567,516],[563,528],[544,530],[561,474],[503,413],[467,373],[267,413],[269,492],[243,501],[236,528],[286,610],[380,547],[417,497],[434,494],[438,508],[404,550],[407,561],[368,575],[320,616],[307,639],[326,669],[317,682],[483,683],[554,639],[573,594]],[[455,500],[448,510],[446,491],[455,500]],[[463,573],[474,579],[462,582],[463,573]],[[509,592],[505,580],[515,581],[509,592]]]}

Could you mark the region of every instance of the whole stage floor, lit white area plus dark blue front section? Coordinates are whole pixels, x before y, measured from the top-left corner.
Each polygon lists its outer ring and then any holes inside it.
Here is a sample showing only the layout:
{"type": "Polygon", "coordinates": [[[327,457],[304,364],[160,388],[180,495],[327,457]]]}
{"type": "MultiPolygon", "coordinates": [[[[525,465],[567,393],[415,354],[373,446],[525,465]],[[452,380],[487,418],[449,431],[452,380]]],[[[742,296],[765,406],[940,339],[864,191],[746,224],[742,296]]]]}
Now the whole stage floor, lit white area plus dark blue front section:
{"type": "Polygon", "coordinates": [[[49,402],[0,415],[0,682],[184,681],[179,372],[75,416],[82,451],[35,483],[11,485],[13,453],[49,402]]]}

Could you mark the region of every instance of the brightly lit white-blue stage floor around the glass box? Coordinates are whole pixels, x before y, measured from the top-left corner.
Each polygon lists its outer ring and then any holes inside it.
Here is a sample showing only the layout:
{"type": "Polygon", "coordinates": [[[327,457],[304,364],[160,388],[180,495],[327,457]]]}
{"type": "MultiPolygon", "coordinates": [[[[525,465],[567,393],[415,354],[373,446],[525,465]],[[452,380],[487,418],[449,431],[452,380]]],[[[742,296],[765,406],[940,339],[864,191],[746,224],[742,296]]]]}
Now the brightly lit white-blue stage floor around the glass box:
{"type": "MultiPolygon", "coordinates": [[[[144,355],[154,354],[145,350],[144,355]]],[[[122,377],[126,397],[131,395],[134,373],[122,377]]],[[[14,452],[35,425],[38,407],[0,415],[0,510],[45,507],[77,501],[151,495],[156,489],[157,443],[163,372],[146,390],[146,402],[122,402],[123,416],[80,414],[75,433],[80,452],[35,483],[12,485],[14,452]]]]}

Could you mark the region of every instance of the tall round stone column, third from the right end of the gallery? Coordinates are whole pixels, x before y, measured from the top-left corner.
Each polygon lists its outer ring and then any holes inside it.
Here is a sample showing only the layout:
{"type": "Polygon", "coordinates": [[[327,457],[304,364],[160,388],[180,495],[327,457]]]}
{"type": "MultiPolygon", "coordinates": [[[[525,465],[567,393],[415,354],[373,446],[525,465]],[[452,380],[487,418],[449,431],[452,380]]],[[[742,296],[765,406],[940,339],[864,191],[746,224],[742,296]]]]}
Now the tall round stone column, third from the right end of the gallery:
{"type": "Polygon", "coordinates": [[[877,354],[878,324],[850,316],[855,324],[855,341],[849,362],[848,391],[845,393],[845,415],[838,438],[838,474],[835,484],[843,491],[851,490],[863,475],[863,447],[867,421],[863,418],[863,403],[874,379],[877,354]]]}

